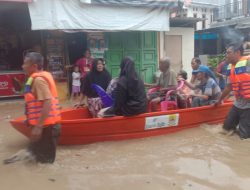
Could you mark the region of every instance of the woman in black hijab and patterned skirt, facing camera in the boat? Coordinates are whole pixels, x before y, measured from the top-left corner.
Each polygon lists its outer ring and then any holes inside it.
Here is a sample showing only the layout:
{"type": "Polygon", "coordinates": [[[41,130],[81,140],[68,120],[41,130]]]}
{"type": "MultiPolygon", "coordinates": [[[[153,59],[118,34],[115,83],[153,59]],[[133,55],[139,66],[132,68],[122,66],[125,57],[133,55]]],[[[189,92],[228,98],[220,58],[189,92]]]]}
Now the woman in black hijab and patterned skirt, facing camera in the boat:
{"type": "MultiPolygon", "coordinates": [[[[111,75],[105,69],[104,60],[101,58],[95,59],[91,71],[87,73],[83,80],[82,89],[82,93],[87,96],[88,109],[93,117],[97,117],[97,113],[102,108],[102,101],[91,85],[97,84],[106,90],[110,81],[111,75]]],[[[80,102],[82,101],[81,99],[80,102]]]]}

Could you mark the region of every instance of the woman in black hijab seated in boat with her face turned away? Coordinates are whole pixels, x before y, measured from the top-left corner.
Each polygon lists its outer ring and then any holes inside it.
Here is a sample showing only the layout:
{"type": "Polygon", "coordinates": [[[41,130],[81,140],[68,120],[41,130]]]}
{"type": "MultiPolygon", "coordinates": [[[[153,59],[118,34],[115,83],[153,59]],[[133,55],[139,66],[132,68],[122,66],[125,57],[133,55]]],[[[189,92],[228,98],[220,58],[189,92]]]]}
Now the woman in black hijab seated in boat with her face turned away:
{"type": "Polygon", "coordinates": [[[125,57],[120,65],[121,72],[115,88],[114,104],[104,108],[98,117],[115,115],[132,116],[147,111],[147,97],[143,81],[135,70],[132,58],[125,57]]]}

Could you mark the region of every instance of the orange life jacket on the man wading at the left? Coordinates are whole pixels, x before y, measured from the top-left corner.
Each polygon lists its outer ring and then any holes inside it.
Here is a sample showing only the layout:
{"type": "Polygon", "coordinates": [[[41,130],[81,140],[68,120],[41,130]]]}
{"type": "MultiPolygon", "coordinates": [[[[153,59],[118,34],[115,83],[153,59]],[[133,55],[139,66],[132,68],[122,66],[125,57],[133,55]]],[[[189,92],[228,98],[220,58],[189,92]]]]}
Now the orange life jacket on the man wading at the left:
{"type": "Polygon", "coordinates": [[[26,103],[26,117],[27,122],[31,126],[36,126],[39,118],[41,117],[41,110],[43,107],[43,101],[37,100],[34,94],[31,92],[31,87],[36,77],[42,77],[47,81],[49,89],[52,95],[51,107],[48,117],[45,119],[43,126],[59,123],[61,120],[61,108],[58,101],[56,85],[53,77],[46,71],[33,73],[27,80],[24,90],[24,100],[26,103]]]}

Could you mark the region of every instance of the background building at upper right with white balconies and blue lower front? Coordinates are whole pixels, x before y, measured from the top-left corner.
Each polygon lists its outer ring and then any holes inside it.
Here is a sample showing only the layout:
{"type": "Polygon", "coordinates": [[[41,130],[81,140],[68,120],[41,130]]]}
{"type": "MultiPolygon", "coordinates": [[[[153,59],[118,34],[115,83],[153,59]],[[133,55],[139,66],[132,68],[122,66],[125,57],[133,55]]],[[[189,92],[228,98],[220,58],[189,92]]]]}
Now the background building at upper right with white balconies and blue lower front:
{"type": "Polygon", "coordinates": [[[209,28],[196,31],[196,55],[222,54],[227,44],[250,40],[249,0],[225,0],[213,15],[209,28]]]}

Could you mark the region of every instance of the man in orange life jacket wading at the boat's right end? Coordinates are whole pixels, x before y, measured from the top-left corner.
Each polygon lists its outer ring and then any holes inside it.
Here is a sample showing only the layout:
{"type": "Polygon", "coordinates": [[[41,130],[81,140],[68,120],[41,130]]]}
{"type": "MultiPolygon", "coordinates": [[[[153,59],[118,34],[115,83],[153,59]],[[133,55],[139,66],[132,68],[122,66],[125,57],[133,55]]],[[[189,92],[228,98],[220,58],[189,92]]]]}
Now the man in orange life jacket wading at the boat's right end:
{"type": "Polygon", "coordinates": [[[234,92],[234,105],[223,124],[224,132],[235,131],[239,124],[239,136],[250,138],[250,57],[243,56],[242,44],[230,44],[226,51],[228,81],[220,99],[215,105],[231,92],[234,92]]]}

